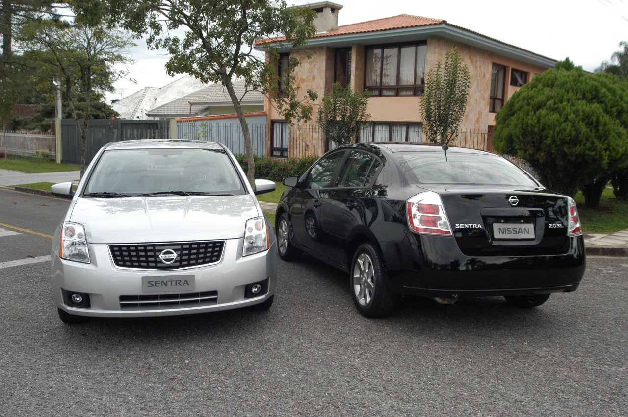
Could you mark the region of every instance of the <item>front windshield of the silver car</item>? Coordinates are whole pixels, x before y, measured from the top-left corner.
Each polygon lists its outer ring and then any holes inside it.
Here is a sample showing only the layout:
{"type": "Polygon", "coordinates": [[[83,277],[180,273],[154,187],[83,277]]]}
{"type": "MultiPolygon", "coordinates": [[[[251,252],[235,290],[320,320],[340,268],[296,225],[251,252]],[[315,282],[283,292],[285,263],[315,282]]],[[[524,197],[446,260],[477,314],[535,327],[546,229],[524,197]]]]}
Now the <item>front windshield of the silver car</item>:
{"type": "Polygon", "coordinates": [[[87,197],[244,194],[223,150],[106,150],[84,190],[87,197]]]}

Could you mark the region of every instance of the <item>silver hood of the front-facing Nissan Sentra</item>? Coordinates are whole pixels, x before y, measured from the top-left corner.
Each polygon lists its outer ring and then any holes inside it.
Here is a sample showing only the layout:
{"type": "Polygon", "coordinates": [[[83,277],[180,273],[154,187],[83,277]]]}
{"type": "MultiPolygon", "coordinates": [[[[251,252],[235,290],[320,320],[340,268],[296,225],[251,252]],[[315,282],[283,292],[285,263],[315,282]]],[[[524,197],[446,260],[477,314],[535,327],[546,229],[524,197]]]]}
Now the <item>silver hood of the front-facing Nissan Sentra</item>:
{"type": "Polygon", "coordinates": [[[68,221],[85,227],[89,243],[144,243],[241,238],[256,216],[250,194],[78,198],[68,221]]]}

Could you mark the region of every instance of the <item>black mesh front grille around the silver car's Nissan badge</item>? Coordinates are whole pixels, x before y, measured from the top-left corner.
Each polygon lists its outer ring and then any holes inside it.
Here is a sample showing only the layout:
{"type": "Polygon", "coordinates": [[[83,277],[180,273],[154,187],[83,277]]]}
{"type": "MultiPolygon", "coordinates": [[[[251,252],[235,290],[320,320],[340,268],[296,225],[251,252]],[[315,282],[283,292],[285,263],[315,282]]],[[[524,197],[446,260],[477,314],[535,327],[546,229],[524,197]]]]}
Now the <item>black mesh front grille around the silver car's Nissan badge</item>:
{"type": "Polygon", "coordinates": [[[216,263],[222,256],[224,240],[175,243],[142,243],[132,245],[109,245],[109,251],[116,267],[138,268],[153,270],[172,270],[178,268],[196,267],[216,263]],[[160,259],[161,253],[176,258],[160,259]]]}

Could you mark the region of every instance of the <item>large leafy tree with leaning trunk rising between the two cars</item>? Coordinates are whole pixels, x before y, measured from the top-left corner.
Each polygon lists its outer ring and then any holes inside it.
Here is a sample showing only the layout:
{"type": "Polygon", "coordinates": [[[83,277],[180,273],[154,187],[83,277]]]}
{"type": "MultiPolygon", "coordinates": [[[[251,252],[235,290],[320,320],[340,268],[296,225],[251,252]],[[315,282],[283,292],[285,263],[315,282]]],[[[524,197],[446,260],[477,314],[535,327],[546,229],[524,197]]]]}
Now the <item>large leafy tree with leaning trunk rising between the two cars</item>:
{"type": "MultiPolygon", "coordinates": [[[[308,8],[288,8],[283,0],[83,0],[82,18],[97,19],[94,11],[105,11],[110,21],[121,24],[138,36],[148,36],[149,48],[163,48],[170,54],[166,63],[168,74],[187,73],[202,82],[221,83],[236,109],[242,127],[249,161],[253,161],[251,134],[242,111],[241,100],[233,87],[234,80],[246,80],[247,88],[277,94],[276,61],[265,61],[254,50],[259,38],[277,38],[282,47],[298,50],[315,34],[314,12],[308,8]],[[94,7],[89,7],[89,4],[94,7]],[[274,74],[274,76],[273,76],[274,74]]],[[[277,49],[265,44],[269,55],[276,58],[277,49]]],[[[311,106],[296,99],[291,71],[286,68],[278,108],[286,121],[308,119],[311,106]]],[[[314,98],[311,94],[310,98],[314,98]]],[[[254,164],[249,164],[247,177],[254,184],[254,164]]]]}

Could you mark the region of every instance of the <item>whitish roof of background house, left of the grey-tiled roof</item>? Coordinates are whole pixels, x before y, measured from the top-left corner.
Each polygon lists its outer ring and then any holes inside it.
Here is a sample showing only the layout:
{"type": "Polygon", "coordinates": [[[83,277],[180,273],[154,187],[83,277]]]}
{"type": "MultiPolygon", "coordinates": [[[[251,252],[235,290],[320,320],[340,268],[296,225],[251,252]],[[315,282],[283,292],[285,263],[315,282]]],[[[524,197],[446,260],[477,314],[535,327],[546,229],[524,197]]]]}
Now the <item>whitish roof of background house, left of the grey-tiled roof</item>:
{"type": "Polygon", "coordinates": [[[194,77],[185,75],[161,88],[146,87],[127,97],[111,103],[120,114],[120,119],[149,119],[148,110],[160,107],[172,100],[207,87],[194,77]]]}

